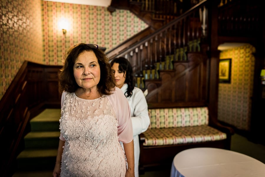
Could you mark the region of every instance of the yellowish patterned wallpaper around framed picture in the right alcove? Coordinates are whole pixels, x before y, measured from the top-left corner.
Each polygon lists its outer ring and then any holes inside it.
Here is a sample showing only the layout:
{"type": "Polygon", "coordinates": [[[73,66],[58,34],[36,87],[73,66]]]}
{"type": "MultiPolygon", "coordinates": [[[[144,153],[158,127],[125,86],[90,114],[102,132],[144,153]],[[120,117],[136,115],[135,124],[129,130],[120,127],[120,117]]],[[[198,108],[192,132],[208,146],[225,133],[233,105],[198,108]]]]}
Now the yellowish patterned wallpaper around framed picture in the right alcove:
{"type": "Polygon", "coordinates": [[[243,130],[250,129],[255,51],[245,45],[220,53],[220,59],[231,58],[232,64],[231,83],[219,83],[218,120],[243,130]]]}

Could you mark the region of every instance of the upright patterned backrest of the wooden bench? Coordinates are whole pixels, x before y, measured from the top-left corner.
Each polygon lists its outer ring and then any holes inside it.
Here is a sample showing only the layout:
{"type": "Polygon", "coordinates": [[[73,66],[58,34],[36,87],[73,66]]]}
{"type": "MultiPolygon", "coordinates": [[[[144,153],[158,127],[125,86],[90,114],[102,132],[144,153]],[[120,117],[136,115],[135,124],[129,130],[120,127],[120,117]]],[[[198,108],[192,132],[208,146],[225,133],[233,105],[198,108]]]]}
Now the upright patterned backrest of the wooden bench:
{"type": "Polygon", "coordinates": [[[148,109],[149,128],[208,125],[208,107],[148,109]]]}

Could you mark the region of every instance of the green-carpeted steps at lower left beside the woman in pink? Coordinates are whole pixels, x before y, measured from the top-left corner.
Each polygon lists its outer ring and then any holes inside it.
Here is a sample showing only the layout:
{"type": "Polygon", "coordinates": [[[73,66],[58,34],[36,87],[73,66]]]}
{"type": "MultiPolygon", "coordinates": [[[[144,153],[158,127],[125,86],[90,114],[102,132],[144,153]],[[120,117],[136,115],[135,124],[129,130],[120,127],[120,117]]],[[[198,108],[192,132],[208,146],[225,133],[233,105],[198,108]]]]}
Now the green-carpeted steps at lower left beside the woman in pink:
{"type": "Polygon", "coordinates": [[[31,131],[24,137],[25,149],[16,159],[17,171],[53,170],[60,136],[60,117],[60,109],[45,109],[30,120],[31,131]]]}

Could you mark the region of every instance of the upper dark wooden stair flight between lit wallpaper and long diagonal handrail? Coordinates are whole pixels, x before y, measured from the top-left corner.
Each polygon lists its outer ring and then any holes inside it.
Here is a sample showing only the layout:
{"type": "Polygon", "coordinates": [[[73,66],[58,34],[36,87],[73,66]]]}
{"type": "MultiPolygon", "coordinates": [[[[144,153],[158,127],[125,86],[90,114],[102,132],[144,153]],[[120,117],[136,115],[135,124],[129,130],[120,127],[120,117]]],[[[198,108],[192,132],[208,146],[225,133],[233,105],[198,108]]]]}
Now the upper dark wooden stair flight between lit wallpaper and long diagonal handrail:
{"type": "Polygon", "coordinates": [[[116,9],[126,9],[134,13],[149,25],[147,29],[127,39],[122,44],[107,52],[109,58],[120,54],[128,46],[131,46],[156,30],[176,19],[185,11],[198,4],[198,0],[175,1],[175,0],[112,0],[108,10],[112,13],[116,9]]]}

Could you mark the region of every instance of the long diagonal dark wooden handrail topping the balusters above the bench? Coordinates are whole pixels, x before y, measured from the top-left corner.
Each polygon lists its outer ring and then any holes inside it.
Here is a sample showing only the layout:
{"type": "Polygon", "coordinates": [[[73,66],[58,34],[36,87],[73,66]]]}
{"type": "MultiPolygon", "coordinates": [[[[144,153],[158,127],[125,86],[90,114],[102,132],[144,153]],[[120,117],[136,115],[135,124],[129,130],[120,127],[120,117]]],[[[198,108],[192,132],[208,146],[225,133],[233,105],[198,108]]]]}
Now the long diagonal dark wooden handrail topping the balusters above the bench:
{"type": "MultiPolygon", "coordinates": [[[[128,53],[128,51],[130,51],[131,49],[134,49],[136,47],[139,47],[141,44],[144,44],[145,42],[147,42],[149,39],[157,36],[158,34],[160,34],[161,32],[165,31],[166,29],[172,27],[173,25],[175,25],[177,22],[183,20],[186,16],[190,15],[193,13],[193,11],[195,9],[200,8],[201,6],[205,5],[208,1],[210,0],[203,0],[200,3],[198,3],[197,5],[193,6],[191,9],[189,9],[188,11],[186,11],[185,13],[183,13],[182,15],[180,15],[179,17],[177,17],[176,19],[170,21],[167,25],[163,26],[162,28],[156,30],[153,34],[143,38],[142,40],[140,40],[139,42],[133,44],[132,46],[130,46],[129,48],[123,50],[122,52],[120,52],[116,57],[119,56],[123,56],[125,54],[128,53]]],[[[115,50],[115,49],[112,49],[115,50]]],[[[111,59],[110,59],[111,60],[111,59]]]]}

